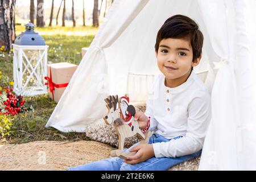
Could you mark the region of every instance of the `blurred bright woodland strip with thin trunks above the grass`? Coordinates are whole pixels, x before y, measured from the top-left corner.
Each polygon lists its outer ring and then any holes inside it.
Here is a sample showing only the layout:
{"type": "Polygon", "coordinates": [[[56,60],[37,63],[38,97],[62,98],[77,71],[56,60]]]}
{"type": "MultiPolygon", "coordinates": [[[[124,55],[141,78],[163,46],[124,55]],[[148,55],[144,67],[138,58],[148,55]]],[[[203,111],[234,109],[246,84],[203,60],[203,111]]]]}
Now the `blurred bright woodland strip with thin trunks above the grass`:
{"type": "Polygon", "coordinates": [[[56,26],[56,23],[60,26],[98,26],[112,3],[112,0],[16,0],[15,23],[31,21],[39,27],[56,26]],[[36,19],[37,10],[39,16],[43,13],[40,19],[36,19]],[[93,15],[93,11],[98,14],[93,15]]]}

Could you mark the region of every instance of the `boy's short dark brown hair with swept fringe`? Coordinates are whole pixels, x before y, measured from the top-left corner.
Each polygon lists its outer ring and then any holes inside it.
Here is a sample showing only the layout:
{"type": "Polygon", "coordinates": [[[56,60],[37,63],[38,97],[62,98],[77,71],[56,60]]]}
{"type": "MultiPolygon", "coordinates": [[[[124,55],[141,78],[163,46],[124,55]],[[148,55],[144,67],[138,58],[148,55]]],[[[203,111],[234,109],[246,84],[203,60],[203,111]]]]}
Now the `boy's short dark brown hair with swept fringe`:
{"type": "Polygon", "coordinates": [[[193,49],[193,61],[200,57],[204,36],[194,20],[184,15],[174,15],[168,18],[159,29],[156,36],[155,51],[163,39],[188,39],[193,49]]]}

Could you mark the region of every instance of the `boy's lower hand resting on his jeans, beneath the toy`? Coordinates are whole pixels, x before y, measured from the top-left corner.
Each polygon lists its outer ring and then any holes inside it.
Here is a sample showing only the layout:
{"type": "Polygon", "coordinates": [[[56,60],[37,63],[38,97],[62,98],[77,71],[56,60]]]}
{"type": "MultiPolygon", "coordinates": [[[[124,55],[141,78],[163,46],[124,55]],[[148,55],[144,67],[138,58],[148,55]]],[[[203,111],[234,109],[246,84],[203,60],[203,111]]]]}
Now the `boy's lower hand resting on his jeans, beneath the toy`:
{"type": "Polygon", "coordinates": [[[141,163],[155,156],[153,145],[148,143],[139,144],[138,146],[131,148],[130,151],[138,152],[135,155],[128,156],[126,160],[123,160],[123,162],[127,164],[141,163]]]}

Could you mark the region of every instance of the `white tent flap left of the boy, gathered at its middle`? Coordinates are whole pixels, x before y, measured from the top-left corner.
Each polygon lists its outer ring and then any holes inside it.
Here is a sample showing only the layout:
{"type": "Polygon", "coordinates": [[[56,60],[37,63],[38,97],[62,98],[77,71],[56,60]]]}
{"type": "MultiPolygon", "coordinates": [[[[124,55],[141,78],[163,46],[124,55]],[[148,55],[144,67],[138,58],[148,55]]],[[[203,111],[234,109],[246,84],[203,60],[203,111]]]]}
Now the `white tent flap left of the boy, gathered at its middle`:
{"type": "Polygon", "coordinates": [[[107,17],[108,21],[98,31],[46,127],[52,126],[65,132],[83,132],[85,125],[95,122],[106,113],[104,98],[109,90],[108,63],[104,48],[111,46],[122,34],[146,5],[147,0],[135,1],[131,4],[129,2],[128,0],[114,2],[107,17]]]}

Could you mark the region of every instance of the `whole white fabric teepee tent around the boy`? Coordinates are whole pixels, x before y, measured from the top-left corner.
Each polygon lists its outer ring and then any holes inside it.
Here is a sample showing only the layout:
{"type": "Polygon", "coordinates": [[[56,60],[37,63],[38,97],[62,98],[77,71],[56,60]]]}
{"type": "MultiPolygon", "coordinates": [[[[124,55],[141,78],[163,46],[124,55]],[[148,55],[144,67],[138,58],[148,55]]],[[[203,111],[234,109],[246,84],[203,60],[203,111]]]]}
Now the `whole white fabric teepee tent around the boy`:
{"type": "Polygon", "coordinates": [[[207,72],[212,120],[199,169],[256,169],[255,0],[114,1],[46,127],[84,132],[106,114],[109,94],[139,90],[133,101],[145,101],[159,73],[156,34],[175,14],[194,19],[204,34],[194,72],[207,72]]]}

